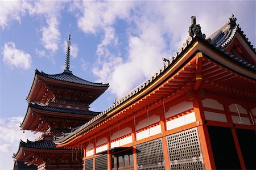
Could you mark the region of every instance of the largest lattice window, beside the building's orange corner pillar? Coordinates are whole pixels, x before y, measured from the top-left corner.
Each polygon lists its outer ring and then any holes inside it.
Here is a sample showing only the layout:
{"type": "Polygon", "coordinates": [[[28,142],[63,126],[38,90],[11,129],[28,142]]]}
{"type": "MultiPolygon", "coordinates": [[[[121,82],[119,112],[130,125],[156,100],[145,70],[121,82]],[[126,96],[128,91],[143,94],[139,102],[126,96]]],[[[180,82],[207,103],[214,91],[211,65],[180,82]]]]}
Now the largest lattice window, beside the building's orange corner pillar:
{"type": "Polygon", "coordinates": [[[204,169],[197,128],[167,136],[171,169],[204,169]]]}

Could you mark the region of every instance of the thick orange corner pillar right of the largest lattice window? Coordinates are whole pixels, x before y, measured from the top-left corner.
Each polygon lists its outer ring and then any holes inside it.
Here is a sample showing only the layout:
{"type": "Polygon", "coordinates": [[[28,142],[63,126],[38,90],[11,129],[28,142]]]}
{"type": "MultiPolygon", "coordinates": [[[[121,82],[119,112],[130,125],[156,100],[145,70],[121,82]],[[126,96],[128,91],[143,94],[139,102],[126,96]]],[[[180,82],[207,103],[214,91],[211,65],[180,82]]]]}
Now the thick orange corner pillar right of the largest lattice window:
{"type": "Polygon", "coordinates": [[[196,120],[201,122],[201,125],[197,126],[201,150],[204,159],[205,169],[216,169],[212,147],[210,145],[210,137],[207,129],[207,125],[203,125],[205,120],[203,105],[201,103],[201,99],[197,95],[196,99],[193,99],[193,109],[196,114],[196,120]]]}

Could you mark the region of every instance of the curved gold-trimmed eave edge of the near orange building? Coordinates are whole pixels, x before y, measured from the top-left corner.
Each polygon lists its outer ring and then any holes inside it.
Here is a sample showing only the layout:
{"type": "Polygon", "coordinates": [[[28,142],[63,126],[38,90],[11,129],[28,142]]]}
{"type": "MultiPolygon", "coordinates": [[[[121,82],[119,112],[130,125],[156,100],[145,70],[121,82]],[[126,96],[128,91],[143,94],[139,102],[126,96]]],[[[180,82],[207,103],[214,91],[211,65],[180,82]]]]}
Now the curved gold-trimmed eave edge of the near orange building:
{"type": "MultiPolygon", "coordinates": [[[[150,92],[152,89],[159,86],[160,83],[162,83],[168,76],[173,74],[177,69],[180,68],[181,65],[183,65],[185,62],[188,62],[187,59],[192,56],[192,54],[195,54],[195,52],[200,51],[206,54],[210,59],[213,59],[214,61],[217,61],[221,65],[224,65],[225,67],[228,67],[229,69],[235,71],[236,73],[240,73],[247,78],[254,79],[255,80],[255,71],[253,69],[249,69],[249,67],[243,66],[241,63],[236,62],[234,59],[230,58],[230,56],[225,53],[223,50],[220,50],[216,48],[214,45],[210,44],[207,40],[202,39],[201,37],[194,38],[179,54],[177,59],[174,63],[168,69],[166,69],[160,76],[158,76],[157,79],[152,81],[149,86],[144,88],[141,92],[136,94],[135,96],[131,96],[129,100],[126,100],[124,103],[117,105],[115,107],[110,107],[106,111],[101,113],[101,117],[94,118],[94,121],[91,121],[91,124],[83,125],[73,133],[68,134],[67,138],[63,138],[62,140],[55,141],[55,143],[58,145],[57,147],[65,147],[69,145],[72,141],[75,141],[75,139],[79,138],[79,136],[83,133],[85,133],[86,130],[89,130],[94,125],[98,124],[103,119],[108,118],[109,116],[112,116],[113,114],[117,113],[121,109],[127,107],[128,105],[134,103],[144,95],[147,95],[148,92],[150,92]],[[98,120],[97,120],[98,118],[98,120]]],[[[90,123],[90,121],[89,121],[90,123]]]]}

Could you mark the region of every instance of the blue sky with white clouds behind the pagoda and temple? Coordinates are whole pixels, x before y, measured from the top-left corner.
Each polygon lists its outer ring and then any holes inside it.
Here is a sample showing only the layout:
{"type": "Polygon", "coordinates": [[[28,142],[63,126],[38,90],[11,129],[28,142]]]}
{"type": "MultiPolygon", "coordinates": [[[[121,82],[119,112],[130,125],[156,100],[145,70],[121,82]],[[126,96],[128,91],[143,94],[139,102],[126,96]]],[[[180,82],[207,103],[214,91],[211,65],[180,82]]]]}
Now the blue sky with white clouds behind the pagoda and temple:
{"type": "Polygon", "coordinates": [[[209,36],[234,14],[255,46],[255,1],[0,1],[0,169],[12,169],[35,69],[62,73],[71,34],[72,73],[110,83],[103,111],[141,84],[188,37],[191,16],[209,36]]]}

